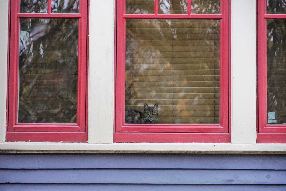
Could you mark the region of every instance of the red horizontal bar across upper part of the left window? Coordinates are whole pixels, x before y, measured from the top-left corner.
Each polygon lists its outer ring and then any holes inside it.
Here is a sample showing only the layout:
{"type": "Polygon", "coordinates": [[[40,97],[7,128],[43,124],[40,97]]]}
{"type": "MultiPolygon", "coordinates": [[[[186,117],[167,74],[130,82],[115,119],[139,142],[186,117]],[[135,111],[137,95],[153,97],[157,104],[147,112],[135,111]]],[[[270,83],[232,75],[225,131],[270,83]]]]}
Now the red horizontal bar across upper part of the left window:
{"type": "MultiPolygon", "coordinates": [[[[83,14],[85,15],[85,14],[83,14]]],[[[82,18],[80,13],[17,13],[19,18],[82,18]]]]}

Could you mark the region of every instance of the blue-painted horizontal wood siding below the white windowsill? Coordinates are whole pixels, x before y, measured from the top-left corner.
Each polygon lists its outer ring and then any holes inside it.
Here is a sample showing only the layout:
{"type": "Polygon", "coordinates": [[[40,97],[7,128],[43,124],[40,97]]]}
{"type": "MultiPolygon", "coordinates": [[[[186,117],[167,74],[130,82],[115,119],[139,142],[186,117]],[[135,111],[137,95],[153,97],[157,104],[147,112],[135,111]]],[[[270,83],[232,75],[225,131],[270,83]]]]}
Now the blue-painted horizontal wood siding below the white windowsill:
{"type": "Polygon", "coordinates": [[[2,154],[0,190],[286,190],[286,155],[2,154]]]}

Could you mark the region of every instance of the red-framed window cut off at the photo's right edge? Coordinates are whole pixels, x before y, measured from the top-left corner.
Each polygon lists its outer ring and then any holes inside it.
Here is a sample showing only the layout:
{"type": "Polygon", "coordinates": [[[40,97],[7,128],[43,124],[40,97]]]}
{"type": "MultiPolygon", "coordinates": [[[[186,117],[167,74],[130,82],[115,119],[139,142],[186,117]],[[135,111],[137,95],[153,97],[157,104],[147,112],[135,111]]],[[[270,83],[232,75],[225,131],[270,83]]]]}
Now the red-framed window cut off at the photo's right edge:
{"type": "Polygon", "coordinates": [[[258,1],[259,143],[286,143],[286,1],[258,1]]]}

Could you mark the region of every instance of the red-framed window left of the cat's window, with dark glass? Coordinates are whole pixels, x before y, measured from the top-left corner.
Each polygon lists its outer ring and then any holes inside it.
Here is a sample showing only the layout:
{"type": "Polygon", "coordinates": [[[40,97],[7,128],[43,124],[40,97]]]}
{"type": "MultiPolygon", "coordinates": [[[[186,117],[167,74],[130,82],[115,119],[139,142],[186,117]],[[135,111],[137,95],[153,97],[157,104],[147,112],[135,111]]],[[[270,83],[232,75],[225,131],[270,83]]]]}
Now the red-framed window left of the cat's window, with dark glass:
{"type": "Polygon", "coordinates": [[[87,141],[87,0],[11,1],[7,141],[87,141]]]}

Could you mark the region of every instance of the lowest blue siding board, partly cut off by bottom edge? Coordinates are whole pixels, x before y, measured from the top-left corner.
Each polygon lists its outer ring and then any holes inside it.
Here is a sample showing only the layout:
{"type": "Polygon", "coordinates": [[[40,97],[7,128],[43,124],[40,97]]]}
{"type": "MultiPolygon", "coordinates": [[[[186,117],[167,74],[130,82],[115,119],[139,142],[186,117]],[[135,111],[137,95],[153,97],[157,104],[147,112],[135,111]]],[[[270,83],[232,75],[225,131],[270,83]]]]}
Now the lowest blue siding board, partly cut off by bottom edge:
{"type": "Polygon", "coordinates": [[[2,191],[285,191],[286,185],[0,184],[2,191]]]}

